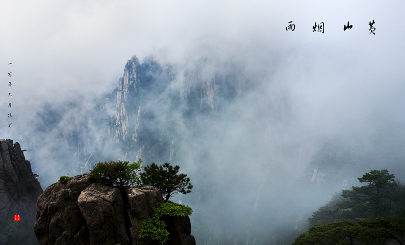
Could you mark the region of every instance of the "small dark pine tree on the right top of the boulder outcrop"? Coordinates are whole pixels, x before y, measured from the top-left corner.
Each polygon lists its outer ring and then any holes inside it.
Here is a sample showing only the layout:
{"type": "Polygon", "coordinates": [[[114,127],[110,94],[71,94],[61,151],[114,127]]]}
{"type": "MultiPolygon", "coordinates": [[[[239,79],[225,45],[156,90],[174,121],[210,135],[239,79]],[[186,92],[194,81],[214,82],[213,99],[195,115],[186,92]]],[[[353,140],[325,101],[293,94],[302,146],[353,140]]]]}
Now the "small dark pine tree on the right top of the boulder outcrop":
{"type": "Polygon", "coordinates": [[[165,202],[177,193],[187,194],[191,192],[193,185],[187,174],[177,174],[180,167],[171,166],[165,163],[163,166],[157,166],[155,163],[146,166],[145,172],[141,173],[141,179],[144,185],[155,186],[165,202]]]}

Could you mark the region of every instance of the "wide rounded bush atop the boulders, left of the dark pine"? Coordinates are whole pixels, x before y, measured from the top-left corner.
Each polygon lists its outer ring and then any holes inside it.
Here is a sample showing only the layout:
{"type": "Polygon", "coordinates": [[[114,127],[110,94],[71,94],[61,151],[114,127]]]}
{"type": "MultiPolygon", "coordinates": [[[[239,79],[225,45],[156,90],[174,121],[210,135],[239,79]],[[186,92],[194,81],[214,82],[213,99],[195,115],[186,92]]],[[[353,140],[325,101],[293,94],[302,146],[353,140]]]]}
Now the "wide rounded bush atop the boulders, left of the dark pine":
{"type": "Polygon", "coordinates": [[[141,183],[142,159],[129,164],[129,161],[98,162],[90,170],[89,178],[109,186],[134,186],[141,183]]]}

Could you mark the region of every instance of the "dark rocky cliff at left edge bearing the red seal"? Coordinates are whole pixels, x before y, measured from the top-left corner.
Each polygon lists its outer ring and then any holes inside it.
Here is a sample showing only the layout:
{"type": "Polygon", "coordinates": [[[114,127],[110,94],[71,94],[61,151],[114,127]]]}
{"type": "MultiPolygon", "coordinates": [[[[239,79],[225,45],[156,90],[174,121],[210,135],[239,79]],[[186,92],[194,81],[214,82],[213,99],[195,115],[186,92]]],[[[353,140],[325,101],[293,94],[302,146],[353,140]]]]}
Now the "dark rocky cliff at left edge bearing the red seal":
{"type": "Polygon", "coordinates": [[[0,155],[0,243],[38,244],[33,225],[41,185],[18,142],[0,140],[0,155]]]}

